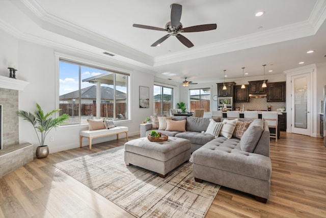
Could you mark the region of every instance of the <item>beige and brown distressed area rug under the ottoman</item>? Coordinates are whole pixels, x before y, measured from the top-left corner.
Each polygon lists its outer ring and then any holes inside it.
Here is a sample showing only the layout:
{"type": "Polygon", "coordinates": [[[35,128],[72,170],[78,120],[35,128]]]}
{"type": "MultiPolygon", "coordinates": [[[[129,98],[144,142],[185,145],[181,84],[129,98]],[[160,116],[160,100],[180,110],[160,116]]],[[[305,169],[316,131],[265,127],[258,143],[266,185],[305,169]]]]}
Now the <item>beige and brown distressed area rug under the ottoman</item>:
{"type": "Polygon", "coordinates": [[[137,217],[204,217],[220,185],[195,182],[187,162],[166,178],[126,166],[123,146],[55,166],[137,217]]]}

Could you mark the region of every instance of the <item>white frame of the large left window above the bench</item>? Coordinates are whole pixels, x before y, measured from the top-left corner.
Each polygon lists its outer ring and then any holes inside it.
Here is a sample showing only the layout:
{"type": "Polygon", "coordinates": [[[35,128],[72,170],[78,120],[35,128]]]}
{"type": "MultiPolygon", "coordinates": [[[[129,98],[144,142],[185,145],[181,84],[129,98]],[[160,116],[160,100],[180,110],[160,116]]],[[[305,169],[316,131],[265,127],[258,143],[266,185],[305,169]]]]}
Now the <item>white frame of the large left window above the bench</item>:
{"type": "MultiPolygon", "coordinates": [[[[55,83],[56,83],[56,88],[55,88],[55,104],[56,104],[56,108],[59,108],[60,105],[60,61],[64,60],[65,62],[70,62],[72,64],[79,64],[85,67],[91,67],[91,68],[95,68],[95,69],[99,69],[99,70],[105,70],[108,72],[112,72],[114,74],[120,74],[120,75],[126,75],[128,76],[128,80],[127,80],[127,91],[126,91],[126,95],[127,95],[127,100],[126,100],[126,107],[127,107],[127,118],[126,119],[117,119],[114,120],[115,123],[128,123],[131,120],[131,77],[132,77],[132,72],[130,70],[127,69],[123,69],[123,68],[118,68],[118,67],[113,67],[101,62],[97,62],[97,61],[92,61],[92,60],[88,60],[88,59],[84,59],[84,58],[80,58],[80,57],[75,57],[75,56],[71,56],[71,55],[67,55],[67,54],[62,54],[59,52],[55,52],[55,69],[56,69],[56,78],[55,78],[55,83]]],[[[80,74],[80,72],[79,72],[80,74]]],[[[80,86],[82,83],[82,79],[80,78],[79,75],[79,79],[80,81],[78,81],[78,90],[80,90],[80,86]]],[[[97,84],[96,84],[97,86],[97,84]]],[[[116,89],[114,89],[116,91],[116,89]]],[[[80,94],[80,93],[79,93],[80,94]]],[[[80,97],[80,96],[79,96],[80,97]]],[[[78,101],[80,102],[81,99],[79,98],[78,101]]],[[[116,108],[116,104],[114,105],[114,110],[116,108]]],[[[79,114],[80,114],[80,107],[78,107],[79,110],[79,114]]],[[[56,114],[56,117],[59,116],[59,114],[56,114]]],[[[85,125],[87,123],[81,123],[80,122],[80,115],[79,116],[79,122],[78,123],[69,123],[69,124],[65,124],[62,126],[76,126],[76,125],[85,125]]],[[[96,118],[99,118],[100,114],[97,113],[96,114],[96,118]]],[[[117,117],[117,116],[114,116],[117,117]]]]}

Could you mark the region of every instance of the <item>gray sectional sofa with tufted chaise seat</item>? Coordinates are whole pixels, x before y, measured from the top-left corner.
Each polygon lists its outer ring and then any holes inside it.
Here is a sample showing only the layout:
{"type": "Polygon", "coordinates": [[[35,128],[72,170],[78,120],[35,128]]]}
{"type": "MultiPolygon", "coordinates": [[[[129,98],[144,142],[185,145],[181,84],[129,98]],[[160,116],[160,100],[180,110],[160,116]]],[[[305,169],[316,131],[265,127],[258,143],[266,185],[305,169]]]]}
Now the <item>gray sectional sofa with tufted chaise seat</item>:
{"type": "MultiPolygon", "coordinates": [[[[205,180],[250,193],[257,201],[266,203],[271,176],[267,122],[249,119],[253,122],[241,139],[228,139],[202,133],[209,125],[209,118],[174,116],[173,119],[186,119],[186,132],[159,132],[192,142],[193,175],[197,182],[205,180]]],[[[220,118],[215,120],[219,122],[220,118]]],[[[141,137],[147,136],[150,131],[150,123],[141,125],[141,137]]]]}

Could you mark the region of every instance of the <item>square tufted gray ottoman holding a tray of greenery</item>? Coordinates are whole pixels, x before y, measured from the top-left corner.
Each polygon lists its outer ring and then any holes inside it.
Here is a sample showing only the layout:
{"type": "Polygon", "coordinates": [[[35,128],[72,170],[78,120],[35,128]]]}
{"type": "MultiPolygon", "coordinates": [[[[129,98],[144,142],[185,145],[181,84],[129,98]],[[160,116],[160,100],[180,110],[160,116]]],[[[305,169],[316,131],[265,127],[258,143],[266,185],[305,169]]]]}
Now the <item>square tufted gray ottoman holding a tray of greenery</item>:
{"type": "Polygon", "coordinates": [[[124,144],[124,161],[126,165],[134,164],[165,178],[172,169],[189,160],[191,146],[191,141],[183,138],[169,137],[159,142],[138,138],[124,144]]]}

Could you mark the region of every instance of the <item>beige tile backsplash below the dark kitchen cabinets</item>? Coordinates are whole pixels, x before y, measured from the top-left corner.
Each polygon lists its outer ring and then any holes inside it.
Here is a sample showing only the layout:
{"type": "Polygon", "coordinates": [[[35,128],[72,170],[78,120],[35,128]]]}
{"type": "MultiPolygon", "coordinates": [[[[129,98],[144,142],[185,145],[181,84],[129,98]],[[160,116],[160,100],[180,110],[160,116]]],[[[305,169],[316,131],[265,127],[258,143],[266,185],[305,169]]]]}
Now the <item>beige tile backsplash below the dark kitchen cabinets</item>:
{"type": "MultiPolygon", "coordinates": [[[[267,102],[266,98],[250,99],[249,102],[245,103],[234,103],[234,108],[244,106],[244,110],[267,110],[267,106],[271,106],[271,111],[276,111],[281,107],[286,106],[286,102],[267,102]]],[[[286,109],[285,109],[286,110],[286,109]]]]}

